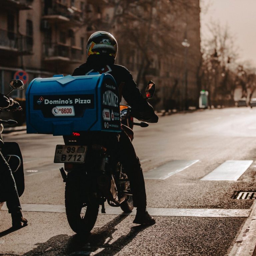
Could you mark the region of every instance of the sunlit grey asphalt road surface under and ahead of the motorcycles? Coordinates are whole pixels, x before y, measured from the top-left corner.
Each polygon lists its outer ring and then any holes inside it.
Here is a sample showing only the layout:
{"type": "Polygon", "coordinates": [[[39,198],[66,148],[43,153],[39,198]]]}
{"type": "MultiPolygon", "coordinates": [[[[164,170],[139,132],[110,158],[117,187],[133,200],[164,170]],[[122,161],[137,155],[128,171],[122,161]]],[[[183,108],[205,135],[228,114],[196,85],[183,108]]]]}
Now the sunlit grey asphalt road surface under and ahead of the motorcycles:
{"type": "MultiPolygon", "coordinates": [[[[145,176],[152,169],[156,173],[155,179],[145,180],[148,208],[152,213],[164,208],[165,213],[155,214],[156,224],[150,227],[133,224],[133,215],[99,214],[87,237],[75,235],[65,213],[54,210],[64,205],[65,184],[58,170],[62,165],[53,163],[55,146],[63,143],[62,138],[24,132],[4,134],[4,141],[20,145],[26,183],[20,199],[24,209],[34,207],[24,211],[29,225],[14,232],[8,230],[8,212],[0,211],[0,255],[220,256],[231,255],[234,246],[245,244],[250,232],[256,230],[253,224],[246,228],[254,200],[237,200],[233,195],[236,191],[256,191],[256,109],[173,114],[134,131],[133,144],[145,176]],[[166,179],[157,178],[172,163],[191,160],[199,161],[187,168],[181,166],[166,179]],[[253,162],[238,179],[201,180],[229,160],[253,162]],[[44,205],[52,206],[53,212],[40,210],[44,205]],[[207,209],[212,215],[205,213],[207,209]],[[236,209],[249,213],[230,215],[236,209]]],[[[234,166],[239,169],[238,162],[234,166]]],[[[251,239],[249,245],[245,251],[241,246],[241,254],[232,255],[253,255],[256,241],[251,239]]]]}

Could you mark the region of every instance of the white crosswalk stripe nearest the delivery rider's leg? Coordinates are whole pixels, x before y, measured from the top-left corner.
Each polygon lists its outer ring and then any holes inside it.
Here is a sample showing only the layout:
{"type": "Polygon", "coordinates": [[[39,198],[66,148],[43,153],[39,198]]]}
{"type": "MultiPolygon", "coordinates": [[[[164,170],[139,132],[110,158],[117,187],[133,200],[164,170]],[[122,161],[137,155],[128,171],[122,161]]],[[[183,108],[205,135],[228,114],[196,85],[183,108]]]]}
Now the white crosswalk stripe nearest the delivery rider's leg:
{"type": "Polygon", "coordinates": [[[170,176],[185,170],[198,161],[199,160],[174,160],[143,173],[144,179],[165,180],[170,176]]]}

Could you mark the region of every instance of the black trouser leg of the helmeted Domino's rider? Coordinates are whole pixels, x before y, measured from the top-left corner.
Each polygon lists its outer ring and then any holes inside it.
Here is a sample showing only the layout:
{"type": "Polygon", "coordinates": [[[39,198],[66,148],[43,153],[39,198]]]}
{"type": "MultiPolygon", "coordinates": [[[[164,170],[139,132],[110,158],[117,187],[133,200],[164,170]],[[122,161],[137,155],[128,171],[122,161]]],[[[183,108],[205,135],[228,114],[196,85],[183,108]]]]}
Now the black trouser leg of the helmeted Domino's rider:
{"type": "Polygon", "coordinates": [[[130,180],[134,207],[146,208],[147,197],[140,161],[135,153],[130,138],[123,130],[120,133],[119,142],[113,143],[111,148],[120,160],[130,180]]]}

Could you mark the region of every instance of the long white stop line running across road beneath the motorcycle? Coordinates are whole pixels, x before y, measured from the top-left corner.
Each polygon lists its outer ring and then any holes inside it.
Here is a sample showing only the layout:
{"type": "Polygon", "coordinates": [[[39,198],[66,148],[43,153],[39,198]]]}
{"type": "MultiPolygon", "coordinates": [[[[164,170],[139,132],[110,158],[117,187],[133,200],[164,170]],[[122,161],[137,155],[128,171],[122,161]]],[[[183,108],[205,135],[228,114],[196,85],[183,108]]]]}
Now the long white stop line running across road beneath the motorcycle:
{"type": "MultiPolygon", "coordinates": [[[[255,201],[256,202],[256,201],[255,201]]],[[[22,211],[27,212],[57,212],[64,213],[64,205],[50,204],[22,204],[22,211]]],[[[8,210],[4,205],[1,210],[8,210]]],[[[180,208],[147,208],[152,216],[180,216],[180,217],[248,217],[251,209],[180,209],[180,208]]],[[[83,209],[82,209],[83,212],[83,209]]],[[[100,213],[100,211],[99,211],[100,213]]],[[[106,206],[106,214],[113,215],[135,215],[136,210],[124,213],[119,207],[106,206]]]]}

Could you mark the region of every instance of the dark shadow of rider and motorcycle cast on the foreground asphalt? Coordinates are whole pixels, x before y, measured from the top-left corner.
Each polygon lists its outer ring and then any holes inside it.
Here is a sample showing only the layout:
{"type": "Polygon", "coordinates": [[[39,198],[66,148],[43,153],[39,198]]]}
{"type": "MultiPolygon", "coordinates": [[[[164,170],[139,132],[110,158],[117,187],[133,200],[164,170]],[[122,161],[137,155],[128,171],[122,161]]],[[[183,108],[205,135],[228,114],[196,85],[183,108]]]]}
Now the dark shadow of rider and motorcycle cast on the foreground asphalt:
{"type": "Polygon", "coordinates": [[[120,236],[112,244],[109,244],[113,239],[113,233],[117,230],[115,227],[127,217],[127,215],[119,215],[101,228],[93,229],[89,235],[57,235],[51,237],[45,243],[36,244],[37,247],[35,249],[23,254],[23,256],[115,255],[129,244],[139,232],[147,227],[134,226],[128,234],[120,236]]]}

